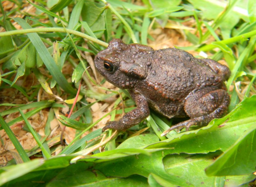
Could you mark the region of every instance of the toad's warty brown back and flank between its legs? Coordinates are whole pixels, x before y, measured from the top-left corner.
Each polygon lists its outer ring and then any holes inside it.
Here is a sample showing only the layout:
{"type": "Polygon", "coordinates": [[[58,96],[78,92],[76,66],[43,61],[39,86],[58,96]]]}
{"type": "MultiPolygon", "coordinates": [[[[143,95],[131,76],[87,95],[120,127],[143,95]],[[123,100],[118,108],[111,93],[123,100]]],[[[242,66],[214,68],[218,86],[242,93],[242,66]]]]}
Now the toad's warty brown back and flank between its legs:
{"type": "Polygon", "coordinates": [[[167,48],[154,51],[148,76],[136,85],[136,90],[156,111],[167,117],[184,117],[188,94],[202,87],[221,87],[220,79],[204,61],[183,50],[167,48]]]}

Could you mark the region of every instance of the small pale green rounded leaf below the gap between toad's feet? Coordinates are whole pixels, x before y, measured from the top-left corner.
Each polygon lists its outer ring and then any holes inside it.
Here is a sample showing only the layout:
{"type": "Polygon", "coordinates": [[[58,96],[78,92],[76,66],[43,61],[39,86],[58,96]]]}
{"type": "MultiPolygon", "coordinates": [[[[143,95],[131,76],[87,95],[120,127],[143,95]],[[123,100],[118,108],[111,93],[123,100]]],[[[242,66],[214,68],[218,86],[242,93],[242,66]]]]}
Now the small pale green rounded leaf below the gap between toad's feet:
{"type": "Polygon", "coordinates": [[[125,149],[125,148],[144,148],[147,145],[156,143],[159,141],[159,138],[155,134],[140,134],[128,138],[123,143],[121,143],[116,149],[125,149]]]}

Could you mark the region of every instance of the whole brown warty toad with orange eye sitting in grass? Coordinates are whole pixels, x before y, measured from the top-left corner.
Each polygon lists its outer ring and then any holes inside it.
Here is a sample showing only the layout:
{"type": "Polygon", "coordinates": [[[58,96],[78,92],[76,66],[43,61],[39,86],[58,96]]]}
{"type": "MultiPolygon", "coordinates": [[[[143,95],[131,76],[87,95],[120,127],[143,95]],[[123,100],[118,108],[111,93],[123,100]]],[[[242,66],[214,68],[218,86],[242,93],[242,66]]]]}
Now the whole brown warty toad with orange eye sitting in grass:
{"type": "Polygon", "coordinates": [[[149,116],[149,107],[168,118],[190,117],[172,126],[169,132],[207,125],[229,106],[224,84],[229,68],[211,59],[195,58],[184,50],[153,50],[113,39],[107,49],[95,56],[94,63],[108,82],[128,89],[137,105],[119,121],[108,122],[103,131],[125,130],[140,123],[149,116]]]}

